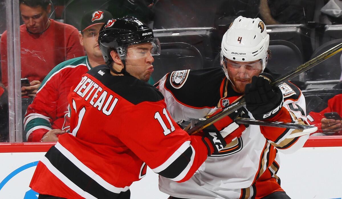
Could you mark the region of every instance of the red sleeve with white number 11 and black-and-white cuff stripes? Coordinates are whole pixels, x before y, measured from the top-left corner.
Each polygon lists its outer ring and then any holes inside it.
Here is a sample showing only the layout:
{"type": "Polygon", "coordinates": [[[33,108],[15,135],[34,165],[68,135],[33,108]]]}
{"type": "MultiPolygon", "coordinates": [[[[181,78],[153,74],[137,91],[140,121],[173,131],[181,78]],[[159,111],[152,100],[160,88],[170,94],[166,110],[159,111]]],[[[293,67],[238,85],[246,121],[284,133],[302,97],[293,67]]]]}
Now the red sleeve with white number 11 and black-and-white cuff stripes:
{"type": "MultiPolygon", "coordinates": [[[[189,136],[171,118],[165,103],[142,102],[126,113],[118,138],[155,172],[184,182],[206,160],[208,149],[200,136],[189,136]]],[[[212,146],[211,146],[212,147],[212,146]]],[[[213,148],[210,148],[210,154],[213,148]]]]}

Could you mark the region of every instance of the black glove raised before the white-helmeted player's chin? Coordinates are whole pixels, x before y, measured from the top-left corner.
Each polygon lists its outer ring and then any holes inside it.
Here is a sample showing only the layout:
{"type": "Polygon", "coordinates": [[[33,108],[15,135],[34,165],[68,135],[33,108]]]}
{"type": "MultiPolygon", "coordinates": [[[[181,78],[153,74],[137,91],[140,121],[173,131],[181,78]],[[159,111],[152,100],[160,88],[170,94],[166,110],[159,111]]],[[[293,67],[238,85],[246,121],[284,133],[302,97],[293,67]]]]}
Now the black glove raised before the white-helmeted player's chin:
{"type": "MultiPolygon", "coordinates": [[[[271,82],[272,75],[261,73],[271,82]]],[[[272,87],[270,82],[262,76],[253,76],[252,82],[245,89],[246,108],[255,119],[265,120],[274,117],[284,102],[283,95],[278,86],[272,87]]]]}

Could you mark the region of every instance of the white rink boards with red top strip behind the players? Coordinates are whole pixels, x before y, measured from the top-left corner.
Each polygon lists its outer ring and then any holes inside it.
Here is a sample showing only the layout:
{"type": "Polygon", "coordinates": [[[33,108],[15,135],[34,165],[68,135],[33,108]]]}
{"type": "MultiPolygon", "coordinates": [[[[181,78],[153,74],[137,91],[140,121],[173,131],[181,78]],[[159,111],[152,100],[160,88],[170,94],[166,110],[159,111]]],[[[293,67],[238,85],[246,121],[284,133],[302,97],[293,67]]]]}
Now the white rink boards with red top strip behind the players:
{"type": "MultiPolygon", "coordinates": [[[[0,198],[37,199],[28,185],[39,159],[53,144],[0,143],[0,198]]],[[[280,157],[278,176],[291,198],[342,197],[342,137],[311,137],[299,151],[280,157]]],[[[150,169],[130,189],[132,199],[168,197],[158,190],[158,175],[150,169]]]]}

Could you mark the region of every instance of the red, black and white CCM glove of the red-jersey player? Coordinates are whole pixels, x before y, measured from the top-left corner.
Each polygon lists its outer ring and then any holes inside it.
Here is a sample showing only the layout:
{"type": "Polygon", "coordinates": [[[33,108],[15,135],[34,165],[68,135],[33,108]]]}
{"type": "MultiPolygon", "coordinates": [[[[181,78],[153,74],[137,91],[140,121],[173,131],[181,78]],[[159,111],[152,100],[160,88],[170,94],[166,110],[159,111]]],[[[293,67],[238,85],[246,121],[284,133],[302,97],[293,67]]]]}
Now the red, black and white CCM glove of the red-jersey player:
{"type": "MultiPolygon", "coordinates": [[[[222,109],[219,109],[211,116],[220,113],[222,109]]],[[[202,137],[202,141],[208,147],[208,155],[210,155],[210,147],[207,140],[210,141],[210,144],[214,146],[214,153],[218,153],[221,151],[227,144],[232,142],[233,139],[241,136],[242,132],[246,129],[244,125],[238,125],[234,122],[234,119],[238,117],[241,112],[247,112],[245,108],[240,108],[235,112],[225,116],[214,124],[208,126],[203,129],[205,133],[205,137],[202,137]],[[205,139],[207,138],[207,139],[205,139]]]]}

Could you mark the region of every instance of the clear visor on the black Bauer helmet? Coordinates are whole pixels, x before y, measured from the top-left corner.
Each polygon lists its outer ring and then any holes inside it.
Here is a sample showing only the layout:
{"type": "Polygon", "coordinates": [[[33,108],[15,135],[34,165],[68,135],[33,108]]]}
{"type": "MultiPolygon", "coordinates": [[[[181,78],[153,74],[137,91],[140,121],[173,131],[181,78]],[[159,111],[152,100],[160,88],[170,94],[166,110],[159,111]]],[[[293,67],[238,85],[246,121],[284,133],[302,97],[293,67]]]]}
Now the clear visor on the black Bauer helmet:
{"type": "Polygon", "coordinates": [[[126,47],[126,59],[142,59],[149,56],[160,55],[160,43],[158,38],[152,41],[133,44],[126,47]]]}

